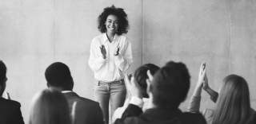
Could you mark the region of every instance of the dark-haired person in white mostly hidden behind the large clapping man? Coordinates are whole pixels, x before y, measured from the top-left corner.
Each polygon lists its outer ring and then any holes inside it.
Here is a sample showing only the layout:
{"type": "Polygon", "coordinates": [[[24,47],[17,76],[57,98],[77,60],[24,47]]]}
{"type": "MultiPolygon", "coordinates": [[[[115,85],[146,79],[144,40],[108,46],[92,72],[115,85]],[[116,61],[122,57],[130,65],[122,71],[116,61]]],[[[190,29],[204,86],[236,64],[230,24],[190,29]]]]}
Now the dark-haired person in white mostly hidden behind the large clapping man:
{"type": "MultiPolygon", "coordinates": [[[[142,97],[143,97],[143,107],[142,110],[145,111],[148,103],[149,95],[146,93],[146,79],[149,77],[147,76],[146,72],[150,70],[150,72],[154,75],[155,72],[157,72],[159,69],[158,66],[154,64],[143,64],[139,68],[137,68],[134,72],[134,81],[136,81],[139,85],[139,87],[142,90],[142,97]]],[[[131,76],[131,75],[130,75],[131,76]]],[[[129,81],[129,80],[128,80],[129,81]]],[[[117,110],[114,111],[114,115],[112,118],[112,121],[114,122],[117,118],[122,117],[122,113],[124,110],[126,110],[126,107],[128,107],[128,104],[130,103],[130,93],[128,91],[128,96],[126,99],[126,102],[123,107],[118,107],[117,110]]]]}

